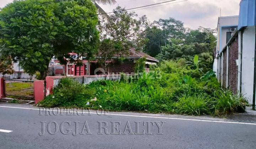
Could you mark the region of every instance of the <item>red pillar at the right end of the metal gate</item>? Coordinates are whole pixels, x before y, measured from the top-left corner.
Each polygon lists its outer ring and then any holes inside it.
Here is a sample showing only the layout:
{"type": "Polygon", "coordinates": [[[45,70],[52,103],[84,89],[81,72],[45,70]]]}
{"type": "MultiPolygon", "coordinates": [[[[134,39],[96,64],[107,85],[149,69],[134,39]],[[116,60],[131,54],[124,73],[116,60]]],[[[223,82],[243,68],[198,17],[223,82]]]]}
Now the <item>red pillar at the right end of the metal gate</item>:
{"type": "Polygon", "coordinates": [[[34,81],[34,98],[35,103],[37,104],[39,101],[44,99],[44,80],[36,80],[34,81]]]}

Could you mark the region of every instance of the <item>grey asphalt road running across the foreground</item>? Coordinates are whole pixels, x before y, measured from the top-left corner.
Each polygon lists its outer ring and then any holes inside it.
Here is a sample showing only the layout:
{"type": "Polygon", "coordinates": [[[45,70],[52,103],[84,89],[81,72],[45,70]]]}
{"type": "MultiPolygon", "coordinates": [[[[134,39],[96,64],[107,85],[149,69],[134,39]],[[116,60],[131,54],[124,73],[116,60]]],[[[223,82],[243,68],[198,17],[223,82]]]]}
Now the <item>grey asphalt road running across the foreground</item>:
{"type": "Polygon", "coordinates": [[[256,148],[255,123],[211,117],[132,112],[104,115],[95,111],[88,115],[57,110],[0,103],[0,148],[256,148]]]}

